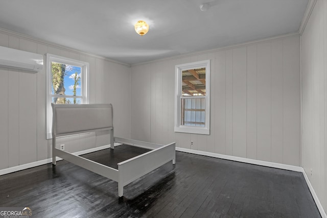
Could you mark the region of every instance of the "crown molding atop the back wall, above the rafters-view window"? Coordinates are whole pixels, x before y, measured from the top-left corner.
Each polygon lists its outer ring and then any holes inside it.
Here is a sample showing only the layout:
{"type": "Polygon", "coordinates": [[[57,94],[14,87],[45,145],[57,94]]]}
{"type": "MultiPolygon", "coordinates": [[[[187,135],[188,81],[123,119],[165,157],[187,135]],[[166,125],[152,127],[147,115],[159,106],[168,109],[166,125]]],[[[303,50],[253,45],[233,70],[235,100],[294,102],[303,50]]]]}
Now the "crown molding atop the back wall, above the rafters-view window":
{"type": "Polygon", "coordinates": [[[219,47],[217,49],[203,50],[203,51],[198,51],[198,52],[192,52],[192,53],[187,53],[187,54],[182,54],[182,55],[171,56],[168,58],[160,58],[160,59],[155,59],[155,60],[151,60],[151,61],[145,61],[145,62],[141,62],[141,63],[131,64],[131,66],[155,63],[155,62],[160,62],[160,61],[169,61],[169,60],[173,60],[176,58],[190,57],[190,56],[194,56],[194,55],[201,55],[201,54],[211,53],[211,52],[219,52],[219,51],[227,50],[227,49],[235,49],[236,47],[241,47],[241,46],[245,46],[245,45],[258,44],[258,43],[263,43],[263,42],[271,42],[271,41],[276,41],[276,40],[293,37],[293,36],[300,36],[300,34],[298,32],[287,33],[287,34],[283,34],[283,35],[277,35],[277,36],[267,37],[267,38],[263,38],[263,39],[242,42],[242,43],[238,43],[238,44],[226,45],[223,47],[219,47]]]}

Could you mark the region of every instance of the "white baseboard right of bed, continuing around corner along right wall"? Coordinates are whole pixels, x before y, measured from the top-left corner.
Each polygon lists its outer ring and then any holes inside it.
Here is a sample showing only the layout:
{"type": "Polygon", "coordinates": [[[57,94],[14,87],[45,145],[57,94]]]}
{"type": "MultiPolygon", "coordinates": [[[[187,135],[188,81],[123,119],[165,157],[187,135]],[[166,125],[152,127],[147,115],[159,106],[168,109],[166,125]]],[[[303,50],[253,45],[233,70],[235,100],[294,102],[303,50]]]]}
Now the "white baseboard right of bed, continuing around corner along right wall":
{"type": "Polygon", "coordinates": [[[281,164],[281,163],[272,163],[272,162],[267,162],[267,161],[262,161],[262,160],[253,160],[253,159],[248,159],[248,158],[243,158],[243,157],[235,157],[235,156],[216,154],[216,153],[211,153],[211,152],[197,151],[197,150],[192,150],[192,149],[183,149],[183,148],[178,148],[178,147],[176,148],[176,151],[204,155],[204,156],[208,156],[208,157],[216,157],[216,158],[221,158],[221,159],[225,159],[225,160],[233,160],[233,161],[238,161],[238,162],[243,162],[243,163],[251,163],[251,164],[261,165],[261,166],[269,166],[269,167],[279,168],[279,169],[287,169],[288,171],[300,172],[303,174],[303,176],[306,179],[307,185],[311,191],[311,195],[317,205],[317,208],[320,212],[321,217],[327,218],[327,215],[318,199],[318,196],[316,195],[315,190],[313,189],[313,187],[310,183],[310,180],[305,172],[305,169],[301,166],[293,166],[293,165],[281,164]]]}

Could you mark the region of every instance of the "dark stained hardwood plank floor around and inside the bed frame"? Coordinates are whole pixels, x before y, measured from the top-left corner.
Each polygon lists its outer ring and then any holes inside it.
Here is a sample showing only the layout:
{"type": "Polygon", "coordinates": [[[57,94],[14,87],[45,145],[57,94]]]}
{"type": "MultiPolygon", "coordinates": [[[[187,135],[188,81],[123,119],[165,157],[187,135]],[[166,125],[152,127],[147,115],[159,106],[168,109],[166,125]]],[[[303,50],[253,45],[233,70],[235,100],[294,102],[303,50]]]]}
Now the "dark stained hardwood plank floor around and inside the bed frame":
{"type": "MultiPolygon", "coordinates": [[[[118,146],[83,155],[116,163],[147,150],[118,146]]],[[[320,217],[298,172],[176,152],[172,162],[125,186],[64,160],[0,176],[0,207],[33,217],[320,217]]]]}

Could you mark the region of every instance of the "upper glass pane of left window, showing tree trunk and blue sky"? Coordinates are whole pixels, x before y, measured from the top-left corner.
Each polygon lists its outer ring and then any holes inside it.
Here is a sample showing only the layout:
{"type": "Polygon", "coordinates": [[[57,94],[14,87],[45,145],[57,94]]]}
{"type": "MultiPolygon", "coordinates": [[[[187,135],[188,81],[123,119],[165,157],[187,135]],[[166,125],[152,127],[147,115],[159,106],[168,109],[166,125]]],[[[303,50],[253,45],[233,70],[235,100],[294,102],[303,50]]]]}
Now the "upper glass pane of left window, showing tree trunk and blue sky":
{"type": "Polygon", "coordinates": [[[51,62],[52,94],[81,96],[81,67],[51,62]]]}

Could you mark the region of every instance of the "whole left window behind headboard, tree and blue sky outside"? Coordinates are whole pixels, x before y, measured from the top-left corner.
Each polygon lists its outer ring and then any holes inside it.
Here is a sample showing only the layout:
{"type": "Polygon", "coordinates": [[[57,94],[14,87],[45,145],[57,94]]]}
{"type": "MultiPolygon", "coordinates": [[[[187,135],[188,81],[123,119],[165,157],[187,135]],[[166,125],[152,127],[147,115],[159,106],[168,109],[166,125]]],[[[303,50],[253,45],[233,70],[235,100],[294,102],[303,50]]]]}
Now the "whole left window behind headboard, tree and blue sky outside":
{"type": "Polygon", "coordinates": [[[52,138],[54,104],[88,104],[89,64],[71,58],[46,54],[46,139],[52,138]]]}

